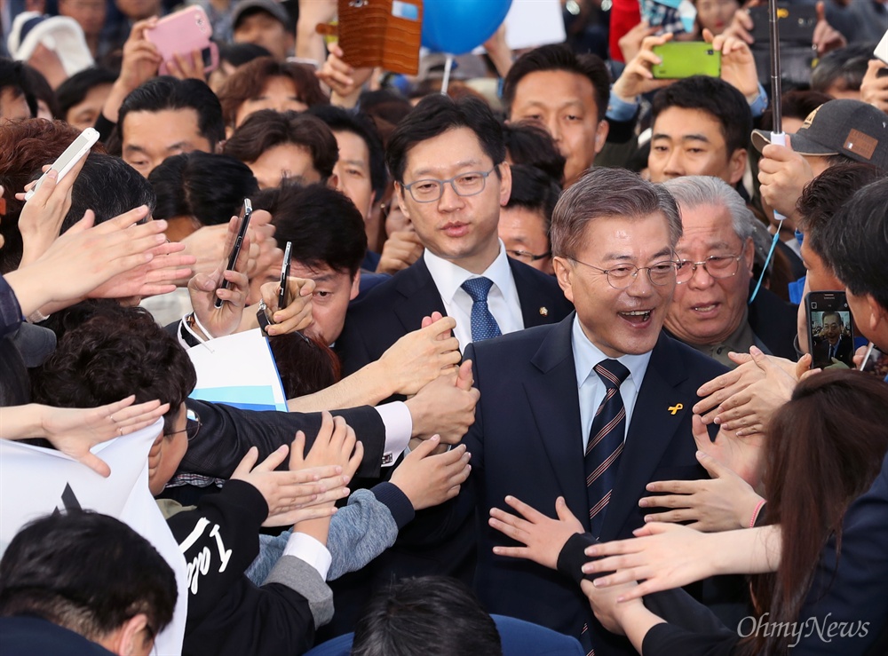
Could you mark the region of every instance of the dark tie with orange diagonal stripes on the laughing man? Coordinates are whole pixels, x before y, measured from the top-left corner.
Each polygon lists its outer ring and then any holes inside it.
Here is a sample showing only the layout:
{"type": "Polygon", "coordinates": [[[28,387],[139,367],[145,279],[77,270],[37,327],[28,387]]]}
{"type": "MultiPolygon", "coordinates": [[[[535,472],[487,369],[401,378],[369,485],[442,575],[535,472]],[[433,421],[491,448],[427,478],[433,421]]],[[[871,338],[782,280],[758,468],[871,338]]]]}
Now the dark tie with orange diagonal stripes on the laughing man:
{"type": "Polygon", "coordinates": [[[601,360],[595,373],[605,383],[605,398],[595,411],[586,445],[586,492],[589,494],[589,521],[592,534],[601,534],[605,509],[614,489],[617,467],[620,464],[623,438],[626,434],[626,407],[622,405],[620,385],[629,369],[616,360],[601,360]]]}

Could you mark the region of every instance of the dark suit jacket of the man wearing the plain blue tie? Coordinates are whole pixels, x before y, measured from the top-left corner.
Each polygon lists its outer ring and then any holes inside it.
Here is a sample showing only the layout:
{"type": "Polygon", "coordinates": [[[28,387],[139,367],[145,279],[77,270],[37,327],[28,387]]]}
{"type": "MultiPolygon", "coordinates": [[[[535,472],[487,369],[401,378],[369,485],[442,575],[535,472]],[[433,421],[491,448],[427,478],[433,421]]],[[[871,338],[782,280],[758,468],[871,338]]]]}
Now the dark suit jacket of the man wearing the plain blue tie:
{"type": "MultiPolygon", "coordinates": [[[[509,266],[525,328],[562,320],[573,309],[552,276],[511,257],[509,266]]],[[[447,313],[432,274],[420,257],[349,307],[336,342],[343,375],[378,360],[401,336],[420,328],[423,317],[432,312],[447,313]]]]}

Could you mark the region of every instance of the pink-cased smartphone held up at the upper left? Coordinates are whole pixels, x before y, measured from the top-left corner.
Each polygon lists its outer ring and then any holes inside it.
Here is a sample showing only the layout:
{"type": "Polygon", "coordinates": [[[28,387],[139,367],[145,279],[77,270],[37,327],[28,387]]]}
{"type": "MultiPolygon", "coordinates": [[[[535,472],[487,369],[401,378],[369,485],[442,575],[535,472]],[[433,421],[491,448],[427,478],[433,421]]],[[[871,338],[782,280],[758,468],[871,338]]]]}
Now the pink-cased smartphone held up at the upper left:
{"type": "Polygon", "coordinates": [[[163,57],[159,75],[170,75],[166,62],[174,59],[176,54],[186,56],[195,50],[201,51],[203,72],[210,73],[219,63],[218,45],[210,41],[211,36],[213,27],[210,19],[197,5],[171,13],[158,20],[155,28],[145,31],[145,38],[155,44],[163,57]]]}

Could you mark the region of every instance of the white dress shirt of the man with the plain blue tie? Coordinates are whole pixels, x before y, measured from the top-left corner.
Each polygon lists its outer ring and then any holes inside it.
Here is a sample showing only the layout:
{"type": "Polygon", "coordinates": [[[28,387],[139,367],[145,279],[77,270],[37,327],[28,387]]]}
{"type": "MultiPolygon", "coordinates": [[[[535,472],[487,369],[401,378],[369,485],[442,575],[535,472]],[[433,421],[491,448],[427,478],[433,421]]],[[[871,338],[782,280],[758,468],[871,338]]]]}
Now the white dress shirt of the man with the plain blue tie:
{"type": "Polygon", "coordinates": [[[454,336],[459,340],[460,351],[465,351],[466,345],[472,343],[472,296],[460,287],[470,278],[484,277],[494,283],[488,293],[488,310],[493,314],[503,335],[524,328],[518,288],[515,287],[515,279],[511,277],[509,256],[505,254],[503,241],[499,242],[499,247],[499,254],[493,264],[481,275],[468,272],[425,249],[425,265],[432,274],[432,281],[438,288],[444,309],[456,320],[454,336]]]}

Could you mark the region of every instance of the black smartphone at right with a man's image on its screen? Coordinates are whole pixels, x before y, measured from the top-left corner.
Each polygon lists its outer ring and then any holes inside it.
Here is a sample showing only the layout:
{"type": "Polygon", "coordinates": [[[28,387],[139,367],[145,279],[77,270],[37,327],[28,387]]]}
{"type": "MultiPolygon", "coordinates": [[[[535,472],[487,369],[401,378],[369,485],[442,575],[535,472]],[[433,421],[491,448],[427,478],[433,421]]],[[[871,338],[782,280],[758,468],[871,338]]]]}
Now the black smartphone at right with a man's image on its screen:
{"type": "Polygon", "coordinates": [[[836,361],[854,368],[854,328],[844,291],[813,291],[805,296],[811,368],[836,361]]]}

